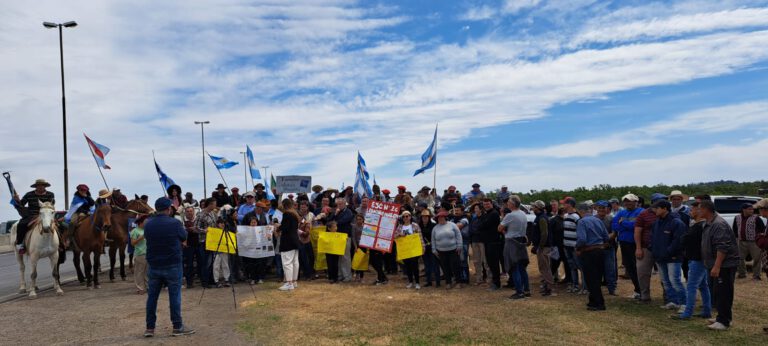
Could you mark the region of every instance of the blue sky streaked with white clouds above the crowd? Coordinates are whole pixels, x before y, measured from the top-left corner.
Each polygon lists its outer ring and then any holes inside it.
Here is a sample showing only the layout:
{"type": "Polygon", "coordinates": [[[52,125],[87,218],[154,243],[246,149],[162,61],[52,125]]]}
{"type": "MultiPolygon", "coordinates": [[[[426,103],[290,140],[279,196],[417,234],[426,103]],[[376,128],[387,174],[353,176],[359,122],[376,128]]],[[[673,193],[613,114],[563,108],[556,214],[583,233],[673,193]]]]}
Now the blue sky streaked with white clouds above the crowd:
{"type": "MultiPolygon", "coordinates": [[[[202,194],[206,150],[313,184],[570,189],[765,179],[768,1],[34,1],[0,11],[0,170],[63,200],[202,194]]],[[[208,192],[220,182],[205,161],[208,192]]],[[[243,165],[222,172],[245,184],[243,165]]],[[[250,185],[250,182],[248,182],[250,185]]],[[[3,184],[4,185],[4,184],[3,184]]],[[[9,199],[0,188],[0,200],[9,199]]],[[[60,207],[63,203],[59,202],[60,207]]],[[[0,204],[0,219],[12,218],[0,204]]]]}

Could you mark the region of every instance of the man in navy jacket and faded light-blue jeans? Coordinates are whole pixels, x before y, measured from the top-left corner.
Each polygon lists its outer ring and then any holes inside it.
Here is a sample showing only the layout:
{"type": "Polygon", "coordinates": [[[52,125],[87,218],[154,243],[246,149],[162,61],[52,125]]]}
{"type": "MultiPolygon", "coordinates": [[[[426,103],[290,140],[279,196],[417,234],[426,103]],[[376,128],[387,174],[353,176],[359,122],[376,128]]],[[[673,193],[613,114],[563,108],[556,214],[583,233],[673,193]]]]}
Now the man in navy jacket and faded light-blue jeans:
{"type": "Polygon", "coordinates": [[[665,309],[685,310],[685,285],[682,277],[682,245],[680,239],[685,234],[685,224],[672,214],[672,204],[659,200],[651,206],[656,214],[651,236],[651,252],[659,267],[661,281],[664,284],[669,303],[665,309]]]}

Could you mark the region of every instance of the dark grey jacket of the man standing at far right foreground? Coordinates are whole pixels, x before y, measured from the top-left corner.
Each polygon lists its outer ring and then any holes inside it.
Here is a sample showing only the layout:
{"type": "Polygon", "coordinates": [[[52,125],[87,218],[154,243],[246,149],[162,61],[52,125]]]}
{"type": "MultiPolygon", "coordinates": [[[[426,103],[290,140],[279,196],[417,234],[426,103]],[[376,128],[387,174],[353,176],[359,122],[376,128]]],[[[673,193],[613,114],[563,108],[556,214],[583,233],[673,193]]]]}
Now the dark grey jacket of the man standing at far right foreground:
{"type": "Polygon", "coordinates": [[[715,214],[715,219],[704,224],[704,233],[701,237],[701,260],[704,266],[715,266],[717,252],[725,252],[722,268],[735,268],[739,265],[739,248],[736,236],[720,214],[715,214]]]}

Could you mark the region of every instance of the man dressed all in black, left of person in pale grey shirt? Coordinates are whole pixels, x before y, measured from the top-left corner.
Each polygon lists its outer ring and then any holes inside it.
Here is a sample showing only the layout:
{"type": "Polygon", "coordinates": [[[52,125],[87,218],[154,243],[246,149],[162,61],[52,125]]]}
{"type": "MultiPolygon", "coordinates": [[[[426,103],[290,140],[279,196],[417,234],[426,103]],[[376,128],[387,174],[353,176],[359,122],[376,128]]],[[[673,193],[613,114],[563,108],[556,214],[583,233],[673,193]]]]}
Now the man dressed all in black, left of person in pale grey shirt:
{"type": "Polygon", "coordinates": [[[498,291],[501,289],[501,255],[504,249],[503,236],[499,233],[499,223],[501,216],[499,211],[493,207],[490,198],[483,200],[483,214],[480,221],[480,234],[485,247],[485,262],[491,271],[491,286],[489,291],[498,291]]]}

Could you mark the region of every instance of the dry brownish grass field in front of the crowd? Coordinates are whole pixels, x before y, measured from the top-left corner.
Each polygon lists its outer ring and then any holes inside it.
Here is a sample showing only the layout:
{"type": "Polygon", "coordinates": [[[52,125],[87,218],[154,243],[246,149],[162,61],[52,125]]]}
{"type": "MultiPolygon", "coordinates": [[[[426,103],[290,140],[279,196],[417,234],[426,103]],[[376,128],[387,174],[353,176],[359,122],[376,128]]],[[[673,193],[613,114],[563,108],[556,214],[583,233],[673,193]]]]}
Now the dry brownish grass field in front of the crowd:
{"type": "MultiPolygon", "coordinates": [[[[539,280],[529,266],[531,282],[539,280]]],[[[373,272],[367,281],[373,280],[373,272]]],[[[736,283],[734,323],[725,332],[710,331],[705,320],[674,321],[662,310],[658,276],[653,277],[654,303],[638,305],[626,298],[632,284],[620,280],[618,297],[606,295],[607,311],[588,312],[586,296],[507,300],[512,290],[405,289],[390,277],[386,286],[330,285],[324,280],[301,282],[293,292],[276,283],[243,302],[237,330],[261,344],[434,345],[434,344],[578,344],[578,345],[766,345],[768,325],[766,281],[736,283]]],[[[538,285],[536,285],[538,286],[538,285]]],[[[534,287],[533,291],[537,291],[534,287]]]]}

